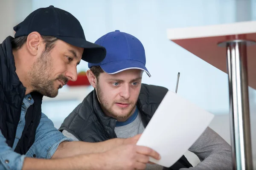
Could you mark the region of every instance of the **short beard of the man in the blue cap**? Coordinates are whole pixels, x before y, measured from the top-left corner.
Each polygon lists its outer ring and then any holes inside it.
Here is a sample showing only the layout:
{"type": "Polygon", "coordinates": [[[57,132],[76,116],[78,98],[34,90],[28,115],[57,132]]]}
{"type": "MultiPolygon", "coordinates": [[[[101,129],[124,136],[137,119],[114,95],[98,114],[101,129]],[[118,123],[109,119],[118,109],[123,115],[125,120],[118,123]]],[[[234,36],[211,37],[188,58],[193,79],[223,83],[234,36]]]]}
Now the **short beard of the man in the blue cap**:
{"type": "MultiPolygon", "coordinates": [[[[134,108],[136,107],[136,103],[134,104],[134,102],[130,103],[132,105],[131,109],[128,111],[127,114],[125,115],[120,115],[118,113],[116,113],[115,111],[113,111],[113,109],[111,109],[111,104],[107,102],[107,100],[104,99],[103,97],[103,92],[101,91],[100,87],[99,87],[99,82],[97,80],[96,83],[96,94],[99,100],[99,104],[103,110],[103,112],[107,115],[107,116],[111,116],[115,119],[128,119],[134,112],[134,108]]],[[[119,102],[127,102],[127,101],[119,101],[119,102]]],[[[113,101],[113,103],[115,103],[115,101],[113,101]]],[[[122,109],[122,108],[121,108],[122,109]]],[[[125,110],[125,109],[122,109],[125,110]]]]}

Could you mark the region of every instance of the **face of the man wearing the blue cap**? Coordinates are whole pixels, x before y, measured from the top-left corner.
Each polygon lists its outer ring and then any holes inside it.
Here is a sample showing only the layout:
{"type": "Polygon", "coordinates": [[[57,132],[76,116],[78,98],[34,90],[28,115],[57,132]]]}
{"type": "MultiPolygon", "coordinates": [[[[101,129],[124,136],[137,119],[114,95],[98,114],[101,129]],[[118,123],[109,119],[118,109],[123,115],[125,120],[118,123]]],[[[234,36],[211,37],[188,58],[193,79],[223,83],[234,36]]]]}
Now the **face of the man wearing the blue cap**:
{"type": "Polygon", "coordinates": [[[132,115],[140,94],[142,74],[142,70],[129,69],[99,75],[96,93],[105,114],[118,121],[125,121],[132,115]]]}

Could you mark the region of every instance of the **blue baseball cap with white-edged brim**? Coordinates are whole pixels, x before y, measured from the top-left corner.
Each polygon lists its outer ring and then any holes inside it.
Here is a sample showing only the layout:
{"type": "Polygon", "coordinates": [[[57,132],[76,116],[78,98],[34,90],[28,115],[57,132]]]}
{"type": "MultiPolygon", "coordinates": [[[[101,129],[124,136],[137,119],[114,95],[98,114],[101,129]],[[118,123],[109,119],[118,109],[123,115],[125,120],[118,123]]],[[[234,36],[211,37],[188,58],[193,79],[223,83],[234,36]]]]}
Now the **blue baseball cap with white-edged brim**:
{"type": "Polygon", "coordinates": [[[100,66],[108,74],[116,74],[128,69],[140,69],[151,75],[145,67],[145,50],[136,37],[119,30],[103,35],[95,44],[106,48],[106,57],[99,63],[88,62],[88,67],[100,66]]]}

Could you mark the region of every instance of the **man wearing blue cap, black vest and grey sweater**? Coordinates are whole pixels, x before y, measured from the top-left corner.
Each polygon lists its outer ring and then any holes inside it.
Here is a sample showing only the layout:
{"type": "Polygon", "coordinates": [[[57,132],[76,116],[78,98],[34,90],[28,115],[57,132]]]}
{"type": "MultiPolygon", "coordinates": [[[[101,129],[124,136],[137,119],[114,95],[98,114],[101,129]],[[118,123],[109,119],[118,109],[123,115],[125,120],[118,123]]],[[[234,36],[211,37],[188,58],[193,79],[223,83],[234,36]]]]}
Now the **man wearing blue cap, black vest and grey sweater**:
{"type": "MultiPolygon", "coordinates": [[[[104,46],[107,54],[102,62],[88,63],[87,77],[94,90],[70,113],[59,130],[84,142],[129,138],[142,133],[168,89],[141,83],[144,71],[151,75],[145,67],[144,47],[136,37],[116,30],[95,43],[104,46]]],[[[169,169],[232,169],[230,145],[209,127],[189,150],[202,162],[192,167],[182,156],[169,169]]],[[[163,168],[147,164],[147,169],[163,168]]]]}

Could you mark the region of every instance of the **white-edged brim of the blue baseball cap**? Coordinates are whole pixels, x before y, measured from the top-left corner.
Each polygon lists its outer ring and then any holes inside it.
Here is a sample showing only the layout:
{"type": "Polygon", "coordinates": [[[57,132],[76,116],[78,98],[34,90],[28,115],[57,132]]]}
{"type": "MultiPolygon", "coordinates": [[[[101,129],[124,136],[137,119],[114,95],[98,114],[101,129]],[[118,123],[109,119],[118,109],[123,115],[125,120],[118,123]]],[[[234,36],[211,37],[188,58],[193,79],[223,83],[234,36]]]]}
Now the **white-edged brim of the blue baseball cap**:
{"type": "Polygon", "coordinates": [[[103,71],[108,74],[116,74],[121,71],[125,71],[128,69],[140,69],[145,71],[148,74],[148,77],[151,77],[149,74],[148,69],[142,62],[138,62],[135,60],[118,60],[113,62],[108,62],[106,64],[100,65],[103,71]]]}

